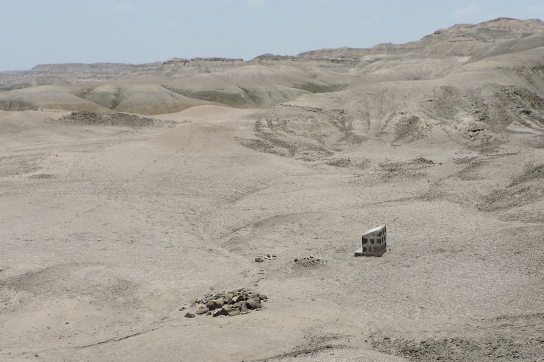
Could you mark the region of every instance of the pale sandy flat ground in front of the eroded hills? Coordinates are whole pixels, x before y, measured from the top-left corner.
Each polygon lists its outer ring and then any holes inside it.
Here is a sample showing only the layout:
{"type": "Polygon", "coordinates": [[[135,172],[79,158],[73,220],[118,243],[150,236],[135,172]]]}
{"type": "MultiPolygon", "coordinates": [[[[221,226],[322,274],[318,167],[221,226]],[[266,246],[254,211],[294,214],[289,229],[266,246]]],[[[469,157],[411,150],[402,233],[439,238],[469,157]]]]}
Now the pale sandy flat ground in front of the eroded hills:
{"type": "Polygon", "coordinates": [[[367,140],[304,161],[245,147],[255,112],[1,111],[0,361],[542,359],[542,148],[367,140]],[[354,258],[381,224],[390,249],[354,258]],[[239,287],[264,309],[179,310],[239,287]]]}

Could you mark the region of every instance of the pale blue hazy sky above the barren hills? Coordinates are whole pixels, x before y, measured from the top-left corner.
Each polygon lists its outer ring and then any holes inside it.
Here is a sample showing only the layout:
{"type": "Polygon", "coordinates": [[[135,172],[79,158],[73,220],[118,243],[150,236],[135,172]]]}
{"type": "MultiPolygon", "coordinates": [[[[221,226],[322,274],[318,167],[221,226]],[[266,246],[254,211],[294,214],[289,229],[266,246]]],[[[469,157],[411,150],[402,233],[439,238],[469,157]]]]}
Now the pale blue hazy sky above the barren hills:
{"type": "Polygon", "coordinates": [[[0,0],[0,70],[296,55],[418,40],[454,24],[544,19],[543,0],[0,0]]]}

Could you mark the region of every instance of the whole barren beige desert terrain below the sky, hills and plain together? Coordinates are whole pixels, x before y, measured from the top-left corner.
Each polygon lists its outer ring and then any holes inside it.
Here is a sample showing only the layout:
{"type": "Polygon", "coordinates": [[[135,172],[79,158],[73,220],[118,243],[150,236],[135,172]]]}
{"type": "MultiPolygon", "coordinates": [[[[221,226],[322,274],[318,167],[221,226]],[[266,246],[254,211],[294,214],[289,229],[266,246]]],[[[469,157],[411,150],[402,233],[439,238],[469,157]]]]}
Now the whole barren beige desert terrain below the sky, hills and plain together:
{"type": "Polygon", "coordinates": [[[0,361],[544,361],[543,235],[538,19],[0,72],[0,361]]]}

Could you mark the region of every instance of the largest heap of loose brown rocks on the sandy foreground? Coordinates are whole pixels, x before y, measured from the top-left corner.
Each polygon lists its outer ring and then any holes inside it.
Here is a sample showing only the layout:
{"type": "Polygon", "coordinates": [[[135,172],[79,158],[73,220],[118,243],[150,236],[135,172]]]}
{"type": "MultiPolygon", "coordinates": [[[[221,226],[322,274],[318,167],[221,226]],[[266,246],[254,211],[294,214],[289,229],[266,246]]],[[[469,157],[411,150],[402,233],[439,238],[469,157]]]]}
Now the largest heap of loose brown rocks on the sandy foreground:
{"type": "Polygon", "coordinates": [[[197,308],[195,313],[188,312],[186,317],[194,318],[195,315],[212,315],[218,317],[250,313],[251,310],[262,309],[262,302],[268,297],[244,288],[232,292],[209,293],[202,299],[193,301],[191,306],[197,308]]]}

